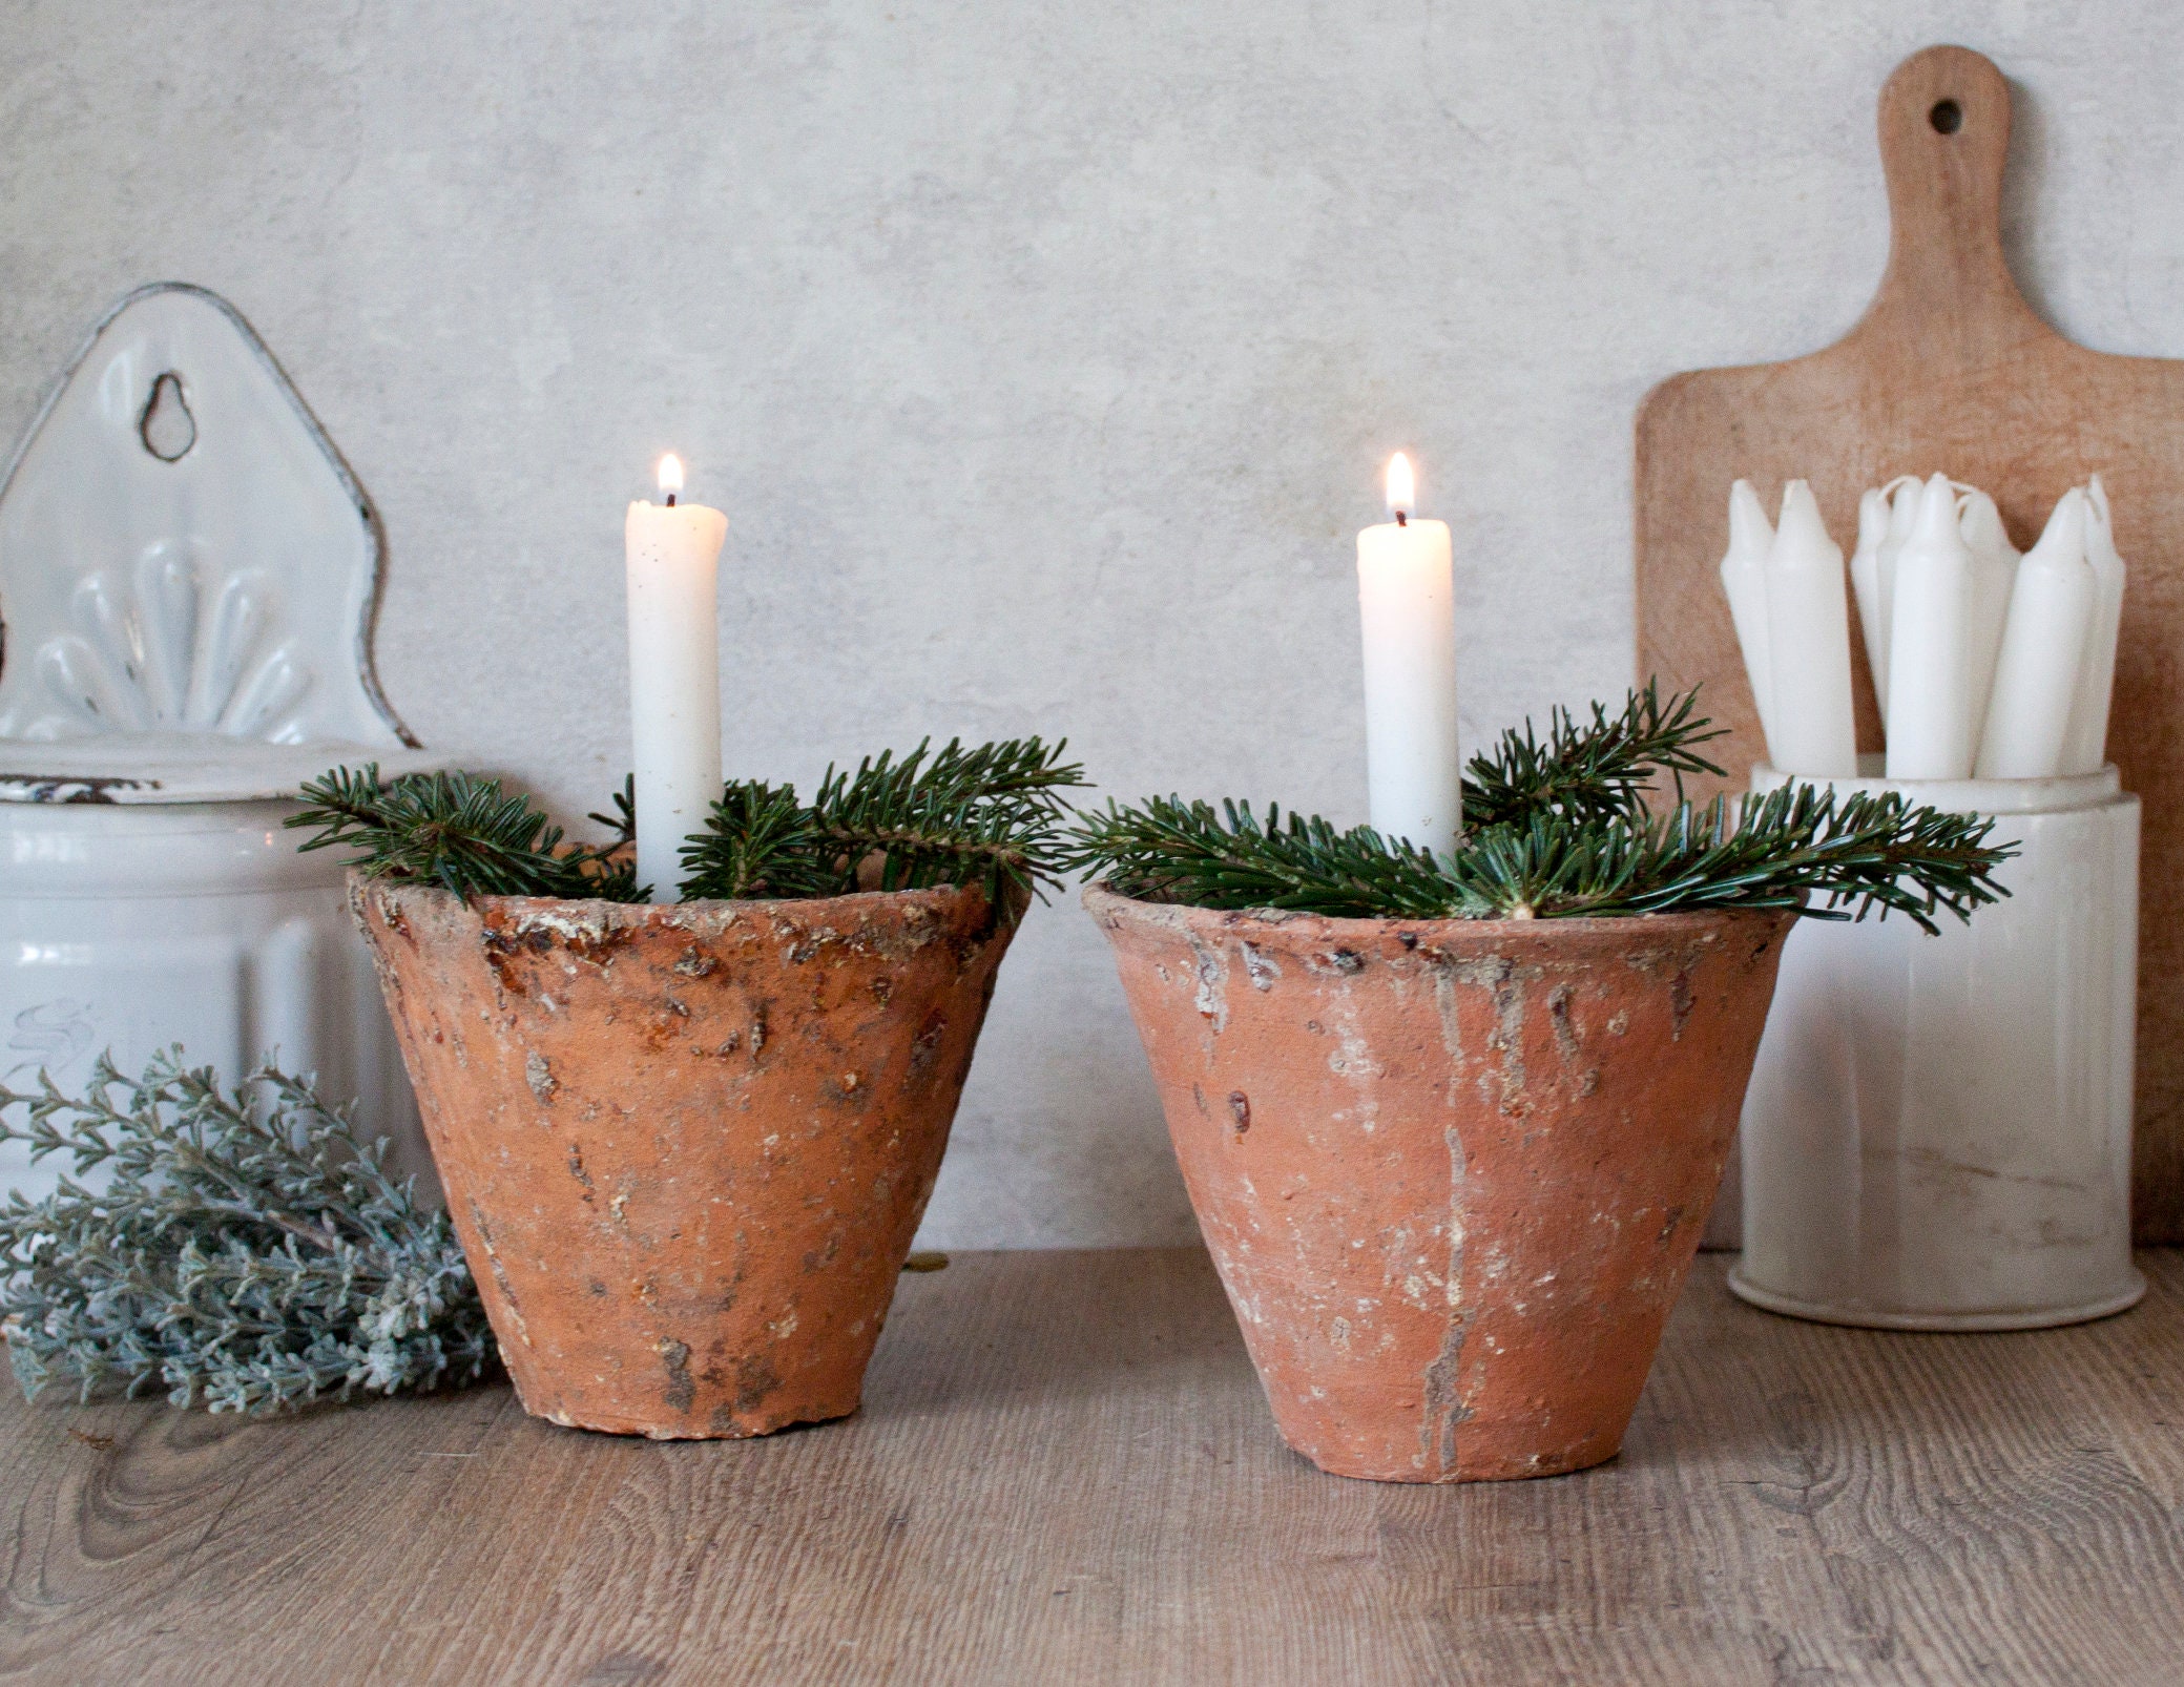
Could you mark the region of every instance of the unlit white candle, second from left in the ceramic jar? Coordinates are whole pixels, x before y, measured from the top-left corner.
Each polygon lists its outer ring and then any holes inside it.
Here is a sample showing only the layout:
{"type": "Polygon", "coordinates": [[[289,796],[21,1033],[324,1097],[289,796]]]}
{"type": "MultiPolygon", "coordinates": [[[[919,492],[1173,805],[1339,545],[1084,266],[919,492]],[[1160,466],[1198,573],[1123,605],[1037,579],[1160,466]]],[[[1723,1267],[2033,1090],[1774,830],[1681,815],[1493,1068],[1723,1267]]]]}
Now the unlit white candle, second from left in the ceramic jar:
{"type": "Polygon", "coordinates": [[[1773,669],[1767,752],[1776,767],[1856,778],[1843,548],[1828,538],[1804,481],[1782,489],[1782,516],[1767,551],[1767,658],[1773,669]]]}

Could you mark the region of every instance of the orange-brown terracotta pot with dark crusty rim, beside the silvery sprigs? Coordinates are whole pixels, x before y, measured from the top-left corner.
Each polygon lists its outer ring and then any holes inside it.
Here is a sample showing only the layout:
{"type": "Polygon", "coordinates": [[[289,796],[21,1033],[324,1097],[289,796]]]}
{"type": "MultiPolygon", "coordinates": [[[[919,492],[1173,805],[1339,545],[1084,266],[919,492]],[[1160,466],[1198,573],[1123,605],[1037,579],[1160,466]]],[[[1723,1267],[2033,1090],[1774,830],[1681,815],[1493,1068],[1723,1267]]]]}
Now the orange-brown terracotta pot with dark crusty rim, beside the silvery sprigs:
{"type": "Polygon", "coordinates": [[[349,907],[526,1412],[686,1438],[856,1409],[1011,922],[976,889],[352,878],[349,907]]]}

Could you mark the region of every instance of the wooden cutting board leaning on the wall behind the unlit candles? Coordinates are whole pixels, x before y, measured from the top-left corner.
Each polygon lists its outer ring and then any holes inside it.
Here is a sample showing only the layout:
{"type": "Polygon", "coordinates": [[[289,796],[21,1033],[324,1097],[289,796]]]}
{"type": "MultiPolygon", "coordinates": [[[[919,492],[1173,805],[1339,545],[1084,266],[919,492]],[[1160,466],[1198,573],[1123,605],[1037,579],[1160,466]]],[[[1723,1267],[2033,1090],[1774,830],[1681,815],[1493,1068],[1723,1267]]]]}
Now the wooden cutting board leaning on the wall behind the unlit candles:
{"type": "MultiPolygon", "coordinates": [[[[1721,597],[1730,483],[1769,514],[1813,483],[1848,553],[1859,494],[1942,470],[1994,494],[2029,546],[2055,498],[2099,470],[2129,564],[2110,760],[2145,800],[2138,922],[2140,1241],[2184,1241],[2184,361],[2073,345],[2018,293],[2003,260],[2009,85],[1961,46],[1904,59],[1880,90],[1889,264],[1865,317],[1824,352],[1695,369],[1638,411],[1638,673],[1706,684],[1734,734],[1712,758],[1736,789],[1762,754],[1752,688],[1721,597]]],[[[2101,253],[2077,262],[2099,264],[2101,253]]],[[[1880,747],[1859,618],[1850,616],[1859,747],[1880,747]]],[[[1717,1232],[1719,1235],[1719,1232],[1717,1232]]],[[[1734,1237],[1734,1230],[1730,1232],[1734,1237]]]]}

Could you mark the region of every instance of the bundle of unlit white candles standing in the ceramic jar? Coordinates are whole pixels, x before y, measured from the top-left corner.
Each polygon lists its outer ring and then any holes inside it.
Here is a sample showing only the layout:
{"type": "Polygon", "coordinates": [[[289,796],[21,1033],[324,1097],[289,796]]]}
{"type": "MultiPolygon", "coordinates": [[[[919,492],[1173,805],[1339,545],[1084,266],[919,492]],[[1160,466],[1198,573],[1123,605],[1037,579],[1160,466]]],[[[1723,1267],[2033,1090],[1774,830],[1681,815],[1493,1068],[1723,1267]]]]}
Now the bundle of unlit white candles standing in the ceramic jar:
{"type": "MultiPolygon", "coordinates": [[[[1874,487],[1859,500],[1850,583],[1887,778],[2099,771],[2123,614],[2099,474],[2062,496],[2025,555],[1979,487],[1944,474],[1874,487]]],[[[1749,481],[1730,487],[1721,586],[1767,758],[1789,774],[1856,776],[1843,551],[1804,481],[1784,487],[1776,527],[1749,481]]]]}

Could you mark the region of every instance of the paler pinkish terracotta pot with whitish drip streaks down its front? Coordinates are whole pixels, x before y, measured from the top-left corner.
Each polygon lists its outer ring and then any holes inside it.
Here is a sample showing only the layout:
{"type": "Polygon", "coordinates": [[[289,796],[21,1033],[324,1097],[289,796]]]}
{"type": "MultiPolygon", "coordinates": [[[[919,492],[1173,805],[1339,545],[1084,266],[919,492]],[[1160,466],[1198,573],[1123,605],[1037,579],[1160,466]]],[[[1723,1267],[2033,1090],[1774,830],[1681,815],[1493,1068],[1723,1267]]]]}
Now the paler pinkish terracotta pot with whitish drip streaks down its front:
{"type": "Polygon", "coordinates": [[[1085,907],[1284,1440],[1378,1482],[1614,1458],[1793,916],[1085,907]]]}

